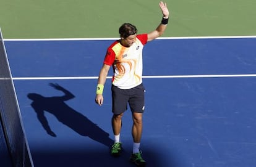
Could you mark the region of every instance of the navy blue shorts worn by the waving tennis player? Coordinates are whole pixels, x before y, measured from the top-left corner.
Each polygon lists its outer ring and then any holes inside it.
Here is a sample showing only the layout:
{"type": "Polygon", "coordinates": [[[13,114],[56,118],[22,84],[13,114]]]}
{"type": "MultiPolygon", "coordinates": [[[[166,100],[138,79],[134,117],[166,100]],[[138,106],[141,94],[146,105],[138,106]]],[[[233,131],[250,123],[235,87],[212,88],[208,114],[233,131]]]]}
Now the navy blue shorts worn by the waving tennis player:
{"type": "Polygon", "coordinates": [[[120,89],[112,85],[112,112],[121,114],[129,104],[131,112],[143,113],[145,108],[145,88],[143,84],[131,89],[120,89]]]}

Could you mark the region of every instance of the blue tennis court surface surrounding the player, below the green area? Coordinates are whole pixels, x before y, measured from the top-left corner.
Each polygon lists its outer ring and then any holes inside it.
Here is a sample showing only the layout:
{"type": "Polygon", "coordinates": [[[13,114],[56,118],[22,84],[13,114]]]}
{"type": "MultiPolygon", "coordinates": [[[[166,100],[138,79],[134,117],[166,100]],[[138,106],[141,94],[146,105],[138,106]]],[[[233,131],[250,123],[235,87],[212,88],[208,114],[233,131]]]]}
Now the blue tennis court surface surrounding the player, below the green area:
{"type": "MultiPolygon", "coordinates": [[[[94,102],[113,40],[5,41],[36,167],[134,166],[129,110],[121,132],[124,153],[109,155],[111,79],[103,106],[94,102]]],[[[160,38],[145,46],[141,149],[147,166],[256,165],[255,43],[255,37],[160,38]]]]}

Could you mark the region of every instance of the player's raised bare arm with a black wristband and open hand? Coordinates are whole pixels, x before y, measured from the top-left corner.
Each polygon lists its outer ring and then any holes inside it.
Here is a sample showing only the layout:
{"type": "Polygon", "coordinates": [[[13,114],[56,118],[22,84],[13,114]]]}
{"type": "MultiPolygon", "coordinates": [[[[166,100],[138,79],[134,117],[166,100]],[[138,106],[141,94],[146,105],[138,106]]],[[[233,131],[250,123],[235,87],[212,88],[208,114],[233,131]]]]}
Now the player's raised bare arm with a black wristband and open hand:
{"type": "Polygon", "coordinates": [[[162,19],[160,25],[158,25],[158,27],[156,28],[156,30],[148,33],[148,41],[152,41],[153,39],[156,39],[156,38],[160,37],[161,35],[163,35],[163,33],[166,29],[167,23],[168,23],[169,10],[167,8],[167,4],[161,1],[159,3],[159,6],[160,6],[160,9],[163,14],[163,19],[162,19]]]}

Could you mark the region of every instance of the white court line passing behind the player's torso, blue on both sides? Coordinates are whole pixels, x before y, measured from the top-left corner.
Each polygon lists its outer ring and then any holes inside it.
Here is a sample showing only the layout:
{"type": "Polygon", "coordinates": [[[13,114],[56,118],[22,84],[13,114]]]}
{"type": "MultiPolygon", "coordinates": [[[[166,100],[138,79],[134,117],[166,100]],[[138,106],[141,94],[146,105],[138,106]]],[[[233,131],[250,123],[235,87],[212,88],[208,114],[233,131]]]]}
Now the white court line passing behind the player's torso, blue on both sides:
{"type": "MultiPolygon", "coordinates": [[[[159,75],[142,76],[142,78],[231,78],[231,77],[255,77],[256,74],[231,74],[231,75],[159,75]]],[[[111,79],[112,76],[107,76],[111,79]]],[[[98,79],[98,76],[73,76],[73,77],[13,77],[13,80],[46,80],[46,79],[98,79]]]]}

